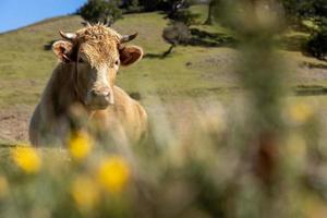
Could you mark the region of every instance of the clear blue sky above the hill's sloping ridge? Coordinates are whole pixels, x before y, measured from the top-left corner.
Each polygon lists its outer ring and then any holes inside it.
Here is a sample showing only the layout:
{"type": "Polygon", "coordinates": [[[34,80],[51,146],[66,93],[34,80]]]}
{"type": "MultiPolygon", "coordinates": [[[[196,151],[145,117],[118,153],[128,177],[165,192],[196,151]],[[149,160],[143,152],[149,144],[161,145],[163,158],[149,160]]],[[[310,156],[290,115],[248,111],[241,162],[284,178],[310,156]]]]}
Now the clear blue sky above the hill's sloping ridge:
{"type": "Polygon", "coordinates": [[[0,0],[0,33],[75,12],[86,0],[0,0]]]}

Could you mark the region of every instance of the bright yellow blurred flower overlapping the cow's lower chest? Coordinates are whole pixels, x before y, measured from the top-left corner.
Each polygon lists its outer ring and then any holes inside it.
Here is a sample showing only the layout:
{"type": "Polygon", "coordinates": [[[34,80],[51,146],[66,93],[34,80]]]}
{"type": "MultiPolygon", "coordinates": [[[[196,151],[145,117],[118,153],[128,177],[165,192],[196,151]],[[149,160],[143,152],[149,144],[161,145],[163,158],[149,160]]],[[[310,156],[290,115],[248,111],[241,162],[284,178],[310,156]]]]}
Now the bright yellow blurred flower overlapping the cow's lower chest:
{"type": "Polygon", "coordinates": [[[90,153],[93,147],[93,143],[87,134],[78,132],[71,136],[69,149],[71,156],[75,160],[83,160],[85,159],[88,154],[90,153]]]}

